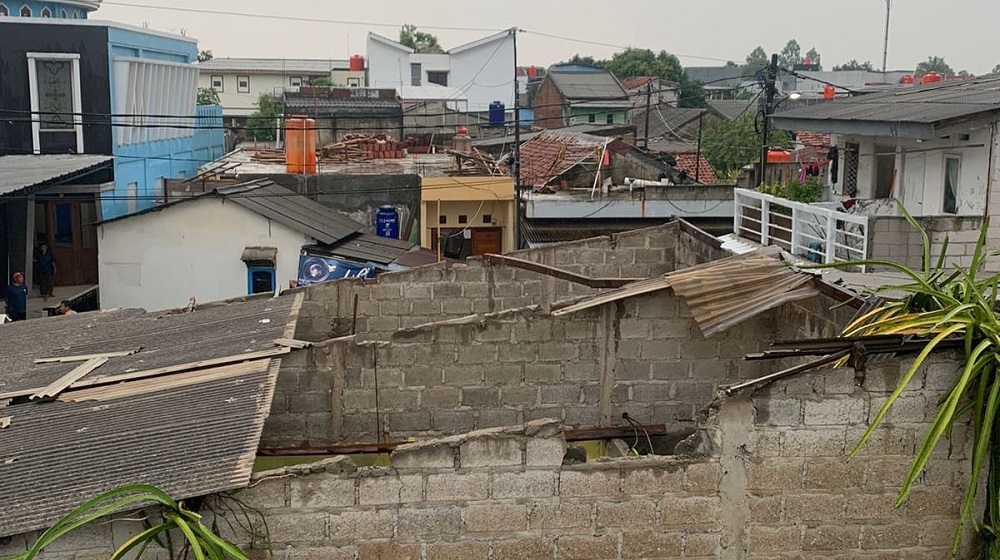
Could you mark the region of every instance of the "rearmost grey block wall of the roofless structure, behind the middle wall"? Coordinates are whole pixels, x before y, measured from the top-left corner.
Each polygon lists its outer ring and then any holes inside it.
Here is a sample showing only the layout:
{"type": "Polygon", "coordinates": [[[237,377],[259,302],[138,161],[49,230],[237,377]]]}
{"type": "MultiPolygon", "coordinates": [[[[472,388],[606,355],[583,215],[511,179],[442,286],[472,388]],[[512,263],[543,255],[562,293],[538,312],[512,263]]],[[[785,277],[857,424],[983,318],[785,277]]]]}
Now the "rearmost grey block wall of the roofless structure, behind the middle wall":
{"type": "MultiPolygon", "coordinates": [[[[592,278],[648,278],[723,256],[679,222],[612,236],[513,253],[592,278]]],[[[385,339],[396,330],[529,305],[550,305],[597,290],[547,275],[473,258],[381,275],[374,282],[342,280],[303,288],[296,336],[321,341],[356,328],[361,339],[385,339]],[[354,297],[357,325],[353,325],[354,297]]]]}

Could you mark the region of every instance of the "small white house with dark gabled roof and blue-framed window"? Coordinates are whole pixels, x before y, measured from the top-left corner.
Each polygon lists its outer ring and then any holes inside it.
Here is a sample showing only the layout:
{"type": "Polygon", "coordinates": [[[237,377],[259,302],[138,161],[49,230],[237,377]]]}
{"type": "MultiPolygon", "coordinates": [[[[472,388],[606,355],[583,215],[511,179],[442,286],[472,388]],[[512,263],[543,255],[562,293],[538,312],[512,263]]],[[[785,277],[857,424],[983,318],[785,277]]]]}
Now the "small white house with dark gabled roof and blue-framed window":
{"type": "Polygon", "coordinates": [[[385,266],[412,246],[271,181],[216,189],[98,224],[104,308],[183,307],[273,292],[299,277],[303,250],[385,266]]]}

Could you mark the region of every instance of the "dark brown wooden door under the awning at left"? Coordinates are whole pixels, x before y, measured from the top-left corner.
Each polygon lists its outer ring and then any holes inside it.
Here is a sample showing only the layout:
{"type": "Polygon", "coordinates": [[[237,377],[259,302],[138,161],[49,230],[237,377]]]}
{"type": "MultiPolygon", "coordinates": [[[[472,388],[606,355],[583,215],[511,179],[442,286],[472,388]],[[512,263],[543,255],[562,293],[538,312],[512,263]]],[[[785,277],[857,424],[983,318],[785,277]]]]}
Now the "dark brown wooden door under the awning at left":
{"type": "Polygon", "coordinates": [[[56,286],[97,284],[97,206],[93,200],[45,203],[49,247],[56,259],[56,286]]]}

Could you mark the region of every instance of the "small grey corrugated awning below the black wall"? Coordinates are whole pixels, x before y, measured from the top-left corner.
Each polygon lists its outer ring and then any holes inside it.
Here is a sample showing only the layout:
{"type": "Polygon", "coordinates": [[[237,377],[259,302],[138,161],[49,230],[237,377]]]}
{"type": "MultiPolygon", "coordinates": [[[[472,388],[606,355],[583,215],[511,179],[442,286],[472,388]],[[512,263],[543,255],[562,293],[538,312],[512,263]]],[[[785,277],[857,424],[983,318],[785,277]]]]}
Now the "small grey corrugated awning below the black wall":
{"type": "Polygon", "coordinates": [[[0,196],[21,189],[57,184],[111,162],[111,156],[16,155],[0,157],[0,196]]]}

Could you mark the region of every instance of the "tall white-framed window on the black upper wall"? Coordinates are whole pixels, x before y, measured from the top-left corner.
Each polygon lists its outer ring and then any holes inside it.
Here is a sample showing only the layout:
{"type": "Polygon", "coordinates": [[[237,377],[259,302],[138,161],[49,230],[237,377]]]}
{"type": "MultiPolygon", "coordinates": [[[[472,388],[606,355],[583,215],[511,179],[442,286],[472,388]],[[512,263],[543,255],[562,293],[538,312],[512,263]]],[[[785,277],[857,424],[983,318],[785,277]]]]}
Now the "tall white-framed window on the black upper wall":
{"type": "Polygon", "coordinates": [[[34,152],[82,154],[80,55],[28,53],[34,152]]]}

